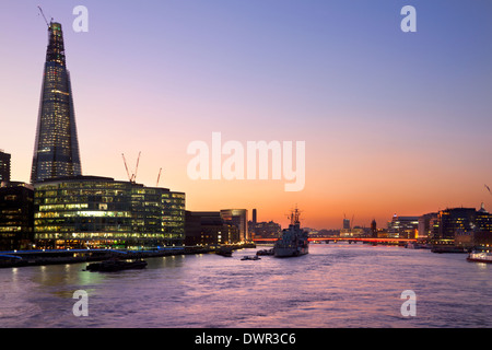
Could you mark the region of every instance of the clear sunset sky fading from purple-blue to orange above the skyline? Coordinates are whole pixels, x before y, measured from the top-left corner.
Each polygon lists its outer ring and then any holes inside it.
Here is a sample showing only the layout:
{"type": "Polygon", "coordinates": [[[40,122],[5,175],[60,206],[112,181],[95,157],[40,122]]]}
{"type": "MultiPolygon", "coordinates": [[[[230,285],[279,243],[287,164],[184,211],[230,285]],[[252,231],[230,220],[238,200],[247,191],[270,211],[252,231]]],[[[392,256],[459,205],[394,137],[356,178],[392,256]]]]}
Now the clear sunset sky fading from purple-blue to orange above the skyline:
{"type": "MultiPolygon", "coordinates": [[[[283,226],[492,209],[490,0],[2,0],[0,149],[30,180],[47,27],[63,25],[84,175],[185,191],[188,210],[253,208],[283,226]],[[75,5],[89,32],[75,33],[75,5]],[[417,33],[403,33],[403,5],[417,33]],[[305,141],[285,180],[191,180],[190,142],[305,141]]],[[[225,159],[225,156],[224,156],[225,159]]]]}

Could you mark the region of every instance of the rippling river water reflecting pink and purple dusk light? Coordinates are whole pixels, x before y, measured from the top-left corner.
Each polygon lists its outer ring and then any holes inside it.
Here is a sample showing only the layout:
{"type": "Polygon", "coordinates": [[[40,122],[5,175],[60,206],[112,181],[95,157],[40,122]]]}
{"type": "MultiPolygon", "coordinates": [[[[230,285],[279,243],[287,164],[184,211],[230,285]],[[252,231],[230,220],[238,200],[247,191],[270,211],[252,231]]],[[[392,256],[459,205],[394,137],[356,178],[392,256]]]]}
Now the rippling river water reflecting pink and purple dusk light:
{"type": "Polygon", "coordinates": [[[0,270],[0,327],[353,328],[492,327],[492,265],[465,254],[363,244],[311,244],[297,258],[265,247],[149,258],[144,270],[86,264],[0,270]],[[87,316],[73,299],[86,292],[87,316]],[[402,316],[401,293],[415,293],[402,316]]]}

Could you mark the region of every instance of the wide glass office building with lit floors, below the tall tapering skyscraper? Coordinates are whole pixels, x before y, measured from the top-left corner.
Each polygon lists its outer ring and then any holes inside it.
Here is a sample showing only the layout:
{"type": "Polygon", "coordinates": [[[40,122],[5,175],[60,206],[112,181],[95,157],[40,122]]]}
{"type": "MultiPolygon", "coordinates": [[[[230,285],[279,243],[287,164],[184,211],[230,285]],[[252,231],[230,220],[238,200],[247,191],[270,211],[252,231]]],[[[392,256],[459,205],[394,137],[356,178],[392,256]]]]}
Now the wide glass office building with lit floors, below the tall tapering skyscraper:
{"type": "Polygon", "coordinates": [[[155,249],[181,246],[185,194],[109,177],[35,184],[37,248],[155,249]]]}

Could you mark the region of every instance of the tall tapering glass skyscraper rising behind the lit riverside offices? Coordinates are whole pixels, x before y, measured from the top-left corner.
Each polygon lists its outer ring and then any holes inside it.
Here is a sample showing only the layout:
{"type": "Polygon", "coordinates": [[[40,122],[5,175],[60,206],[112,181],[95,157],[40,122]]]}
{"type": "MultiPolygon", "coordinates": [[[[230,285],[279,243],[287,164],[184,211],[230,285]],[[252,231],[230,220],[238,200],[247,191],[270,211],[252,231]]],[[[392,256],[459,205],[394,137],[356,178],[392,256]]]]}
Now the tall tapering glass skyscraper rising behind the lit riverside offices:
{"type": "Polygon", "coordinates": [[[61,24],[48,26],[48,49],[39,104],[31,183],[82,175],[70,73],[61,24]]]}

